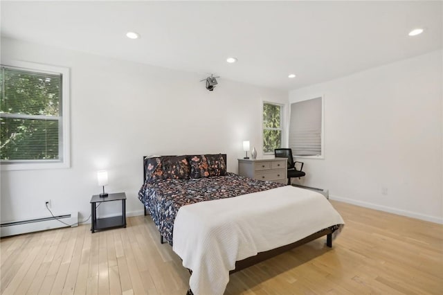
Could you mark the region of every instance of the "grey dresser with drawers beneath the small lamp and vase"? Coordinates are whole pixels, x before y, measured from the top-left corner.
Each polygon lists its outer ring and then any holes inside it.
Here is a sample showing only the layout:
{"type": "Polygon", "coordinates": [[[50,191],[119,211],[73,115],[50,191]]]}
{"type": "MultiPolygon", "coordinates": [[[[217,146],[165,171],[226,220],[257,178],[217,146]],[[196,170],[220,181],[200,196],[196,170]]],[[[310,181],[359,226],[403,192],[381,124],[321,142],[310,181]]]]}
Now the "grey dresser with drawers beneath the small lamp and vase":
{"type": "Polygon", "coordinates": [[[287,159],[238,159],[238,174],[287,184],[287,159]]]}

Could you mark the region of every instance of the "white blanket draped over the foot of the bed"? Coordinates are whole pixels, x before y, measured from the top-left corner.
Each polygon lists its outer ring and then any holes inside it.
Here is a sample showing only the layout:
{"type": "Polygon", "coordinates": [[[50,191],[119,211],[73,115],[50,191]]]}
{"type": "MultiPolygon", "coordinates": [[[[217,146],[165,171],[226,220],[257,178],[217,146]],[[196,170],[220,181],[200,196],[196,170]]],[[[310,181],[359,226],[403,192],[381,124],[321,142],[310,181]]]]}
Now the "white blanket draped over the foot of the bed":
{"type": "MultiPolygon", "coordinates": [[[[182,206],[173,250],[194,294],[223,294],[235,261],[291,244],[343,219],[319,193],[293,186],[182,206]]],[[[336,231],[337,232],[337,231],[336,231]]]]}

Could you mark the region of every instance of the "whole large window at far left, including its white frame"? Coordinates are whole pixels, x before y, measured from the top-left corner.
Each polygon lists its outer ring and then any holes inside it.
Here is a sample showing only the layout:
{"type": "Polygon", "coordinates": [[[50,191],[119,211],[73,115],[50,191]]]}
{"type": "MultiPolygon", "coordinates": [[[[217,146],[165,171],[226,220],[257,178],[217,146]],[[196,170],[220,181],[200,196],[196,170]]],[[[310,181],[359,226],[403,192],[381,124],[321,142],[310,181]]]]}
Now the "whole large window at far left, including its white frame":
{"type": "Polygon", "coordinates": [[[3,170],[69,167],[68,82],[65,68],[27,62],[1,66],[3,170]]]}

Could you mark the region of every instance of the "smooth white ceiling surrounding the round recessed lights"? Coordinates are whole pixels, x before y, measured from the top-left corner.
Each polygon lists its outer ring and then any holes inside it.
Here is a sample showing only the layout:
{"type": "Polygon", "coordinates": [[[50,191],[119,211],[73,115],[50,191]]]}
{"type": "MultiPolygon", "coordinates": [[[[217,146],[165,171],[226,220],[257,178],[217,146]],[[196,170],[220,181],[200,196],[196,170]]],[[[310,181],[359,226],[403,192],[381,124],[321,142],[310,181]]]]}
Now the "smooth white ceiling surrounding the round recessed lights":
{"type": "Polygon", "coordinates": [[[1,34],[276,89],[442,48],[441,1],[1,1],[1,34]],[[422,35],[409,37],[417,27],[422,35]],[[128,39],[134,30],[141,39],[128,39]],[[226,58],[238,58],[227,64],[226,58]],[[287,78],[289,73],[297,77],[287,78]]]}

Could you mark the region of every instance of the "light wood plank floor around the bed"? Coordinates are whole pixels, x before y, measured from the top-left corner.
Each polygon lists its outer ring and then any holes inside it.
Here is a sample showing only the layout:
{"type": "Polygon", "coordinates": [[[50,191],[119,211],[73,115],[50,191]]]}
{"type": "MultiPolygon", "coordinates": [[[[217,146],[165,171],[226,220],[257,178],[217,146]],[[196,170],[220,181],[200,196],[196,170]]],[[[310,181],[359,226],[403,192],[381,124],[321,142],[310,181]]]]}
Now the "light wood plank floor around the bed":
{"type": "MultiPolygon", "coordinates": [[[[443,294],[443,226],[332,202],[346,226],[230,276],[226,294],[443,294]]],[[[1,239],[1,294],[186,294],[150,217],[1,239]]]]}

